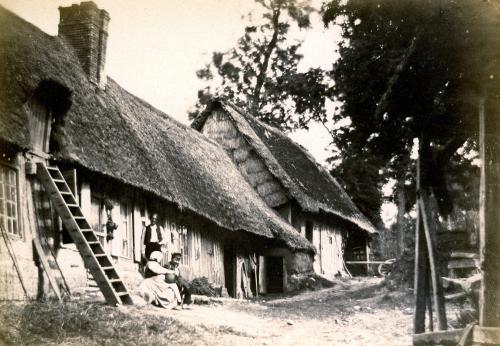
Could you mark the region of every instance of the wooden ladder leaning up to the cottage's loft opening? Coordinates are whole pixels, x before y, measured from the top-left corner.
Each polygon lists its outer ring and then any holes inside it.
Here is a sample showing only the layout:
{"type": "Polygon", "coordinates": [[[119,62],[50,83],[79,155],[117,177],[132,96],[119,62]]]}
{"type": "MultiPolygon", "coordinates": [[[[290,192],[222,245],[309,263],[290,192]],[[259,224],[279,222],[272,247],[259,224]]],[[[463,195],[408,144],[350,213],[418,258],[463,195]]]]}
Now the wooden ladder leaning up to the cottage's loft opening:
{"type": "Polygon", "coordinates": [[[48,192],[54,208],[82,256],[85,267],[91,272],[106,302],[112,305],[133,304],[125,284],[83,216],[59,168],[37,163],[37,176],[48,192]]]}

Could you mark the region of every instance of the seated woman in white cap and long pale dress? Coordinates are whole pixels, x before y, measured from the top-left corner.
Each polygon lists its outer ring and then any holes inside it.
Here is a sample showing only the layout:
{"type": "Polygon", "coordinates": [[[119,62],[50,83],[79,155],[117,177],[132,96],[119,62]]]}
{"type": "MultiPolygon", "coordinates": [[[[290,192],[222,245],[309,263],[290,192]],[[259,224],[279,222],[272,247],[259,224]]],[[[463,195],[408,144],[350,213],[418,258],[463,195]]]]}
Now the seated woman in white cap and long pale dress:
{"type": "Polygon", "coordinates": [[[165,274],[174,274],[174,270],[165,269],[160,261],[163,254],[153,251],[146,264],[145,279],[140,283],[141,296],[148,304],[153,304],[167,309],[178,309],[181,303],[179,288],[175,283],[165,282],[165,274]]]}

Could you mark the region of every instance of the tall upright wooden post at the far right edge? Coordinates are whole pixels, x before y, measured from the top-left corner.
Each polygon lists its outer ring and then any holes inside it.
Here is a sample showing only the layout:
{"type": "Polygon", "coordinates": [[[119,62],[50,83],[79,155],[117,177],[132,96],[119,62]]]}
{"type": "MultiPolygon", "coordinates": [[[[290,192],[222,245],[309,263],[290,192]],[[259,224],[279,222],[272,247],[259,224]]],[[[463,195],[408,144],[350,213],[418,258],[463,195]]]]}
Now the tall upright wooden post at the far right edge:
{"type": "Polygon", "coordinates": [[[500,107],[498,101],[479,100],[481,159],[479,259],[482,284],[479,325],[500,327],[500,107]]]}

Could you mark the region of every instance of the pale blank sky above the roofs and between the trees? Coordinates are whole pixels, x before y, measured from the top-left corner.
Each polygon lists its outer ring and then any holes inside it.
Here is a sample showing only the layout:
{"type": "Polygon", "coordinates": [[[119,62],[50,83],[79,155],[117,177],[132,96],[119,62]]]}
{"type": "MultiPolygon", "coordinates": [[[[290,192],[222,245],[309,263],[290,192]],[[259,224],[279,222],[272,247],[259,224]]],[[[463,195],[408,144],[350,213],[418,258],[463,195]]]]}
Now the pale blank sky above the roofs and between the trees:
{"type": "MultiPolygon", "coordinates": [[[[188,124],[188,110],[204,85],[195,72],[212,52],[233,47],[248,23],[258,17],[254,0],[94,0],[110,14],[106,70],[131,93],[188,124]]],[[[50,35],[57,35],[59,6],[75,0],[0,0],[0,4],[50,35]]],[[[314,0],[315,5],[321,0],[314,0]]],[[[338,31],[325,29],[319,15],[303,39],[299,67],[331,67],[338,31]]],[[[321,125],[290,135],[325,164],[330,143],[321,125]]]]}

